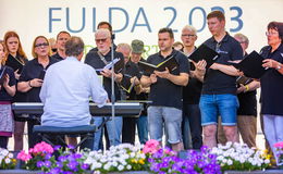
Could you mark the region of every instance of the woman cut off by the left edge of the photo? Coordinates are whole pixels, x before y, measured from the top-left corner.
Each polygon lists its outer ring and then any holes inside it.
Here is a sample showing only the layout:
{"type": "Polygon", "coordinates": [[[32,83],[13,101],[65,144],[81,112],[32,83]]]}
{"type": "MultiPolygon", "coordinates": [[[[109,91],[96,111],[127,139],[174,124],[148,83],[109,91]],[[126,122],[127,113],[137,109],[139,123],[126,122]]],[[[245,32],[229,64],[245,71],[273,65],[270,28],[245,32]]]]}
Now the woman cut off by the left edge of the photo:
{"type": "Polygon", "coordinates": [[[5,66],[5,48],[0,42],[0,148],[7,149],[8,138],[13,133],[11,102],[15,95],[14,71],[5,66]]]}

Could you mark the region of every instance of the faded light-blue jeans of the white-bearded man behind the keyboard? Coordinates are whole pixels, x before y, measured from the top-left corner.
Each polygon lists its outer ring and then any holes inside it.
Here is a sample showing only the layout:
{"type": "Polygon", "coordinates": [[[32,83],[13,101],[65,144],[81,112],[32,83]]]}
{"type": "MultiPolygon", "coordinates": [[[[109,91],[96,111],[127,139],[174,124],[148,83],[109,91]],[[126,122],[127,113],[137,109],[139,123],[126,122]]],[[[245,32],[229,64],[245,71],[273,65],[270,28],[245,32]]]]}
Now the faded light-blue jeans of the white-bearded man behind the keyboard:
{"type": "MultiPolygon", "coordinates": [[[[104,119],[107,117],[96,116],[94,119],[95,120],[94,124],[99,126],[104,119]]],[[[123,125],[122,116],[115,116],[114,120],[108,121],[106,123],[110,146],[116,146],[121,144],[122,125],[123,125]]],[[[99,150],[99,141],[101,139],[101,136],[102,136],[102,129],[99,129],[98,132],[95,133],[94,150],[99,150]]]]}

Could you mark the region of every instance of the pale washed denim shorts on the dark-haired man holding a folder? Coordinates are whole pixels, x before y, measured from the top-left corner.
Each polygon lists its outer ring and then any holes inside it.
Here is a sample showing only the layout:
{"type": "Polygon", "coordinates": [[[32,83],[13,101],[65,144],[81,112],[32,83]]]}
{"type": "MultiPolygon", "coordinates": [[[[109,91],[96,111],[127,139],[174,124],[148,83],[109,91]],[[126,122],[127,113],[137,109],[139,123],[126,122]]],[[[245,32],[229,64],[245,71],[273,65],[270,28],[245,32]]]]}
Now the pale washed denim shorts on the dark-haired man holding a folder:
{"type": "Polygon", "coordinates": [[[164,121],[164,126],[168,132],[168,141],[170,144],[179,144],[182,141],[182,110],[171,107],[149,107],[147,113],[151,139],[162,140],[164,121]]]}

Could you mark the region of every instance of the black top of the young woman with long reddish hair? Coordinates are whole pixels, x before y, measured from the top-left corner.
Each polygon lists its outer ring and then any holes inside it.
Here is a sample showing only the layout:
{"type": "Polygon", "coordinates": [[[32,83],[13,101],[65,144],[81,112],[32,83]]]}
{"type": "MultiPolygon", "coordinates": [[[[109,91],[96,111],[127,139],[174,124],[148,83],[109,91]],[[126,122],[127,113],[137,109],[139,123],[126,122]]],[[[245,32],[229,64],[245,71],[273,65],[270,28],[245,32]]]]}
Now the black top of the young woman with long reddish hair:
{"type": "MultiPolygon", "coordinates": [[[[28,61],[27,59],[21,58],[19,54],[16,54],[15,58],[13,55],[9,54],[7,62],[5,62],[5,65],[10,66],[10,63],[11,63],[10,60],[12,60],[12,59],[16,59],[17,61],[21,61],[23,64],[26,64],[27,61],[28,61]]],[[[14,70],[14,72],[16,70],[14,70]]],[[[17,73],[20,73],[20,72],[17,72],[17,73]]],[[[17,79],[16,79],[16,83],[17,83],[17,79]]],[[[17,87],[17,85],[15,87],[17,87]]],[[[13,102],[25,102],[25,101],[26,101],[26,92],[21,92],[16,89],[15,96],[13,97],[13,102]]]]}

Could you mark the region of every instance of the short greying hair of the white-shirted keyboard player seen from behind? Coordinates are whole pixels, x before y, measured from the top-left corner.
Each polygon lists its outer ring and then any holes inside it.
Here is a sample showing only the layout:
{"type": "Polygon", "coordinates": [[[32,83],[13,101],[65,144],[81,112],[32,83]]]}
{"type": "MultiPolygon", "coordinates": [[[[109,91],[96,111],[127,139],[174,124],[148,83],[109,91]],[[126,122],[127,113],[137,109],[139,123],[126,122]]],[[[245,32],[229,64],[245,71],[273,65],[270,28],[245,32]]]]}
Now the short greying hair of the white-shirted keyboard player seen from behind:
{"type": "Polygon", "coordinates": [[[85,44],[81,37],[72,36],[65,42],[65,54],[67,57],[78,57],[84,51],[85,44]]]}

